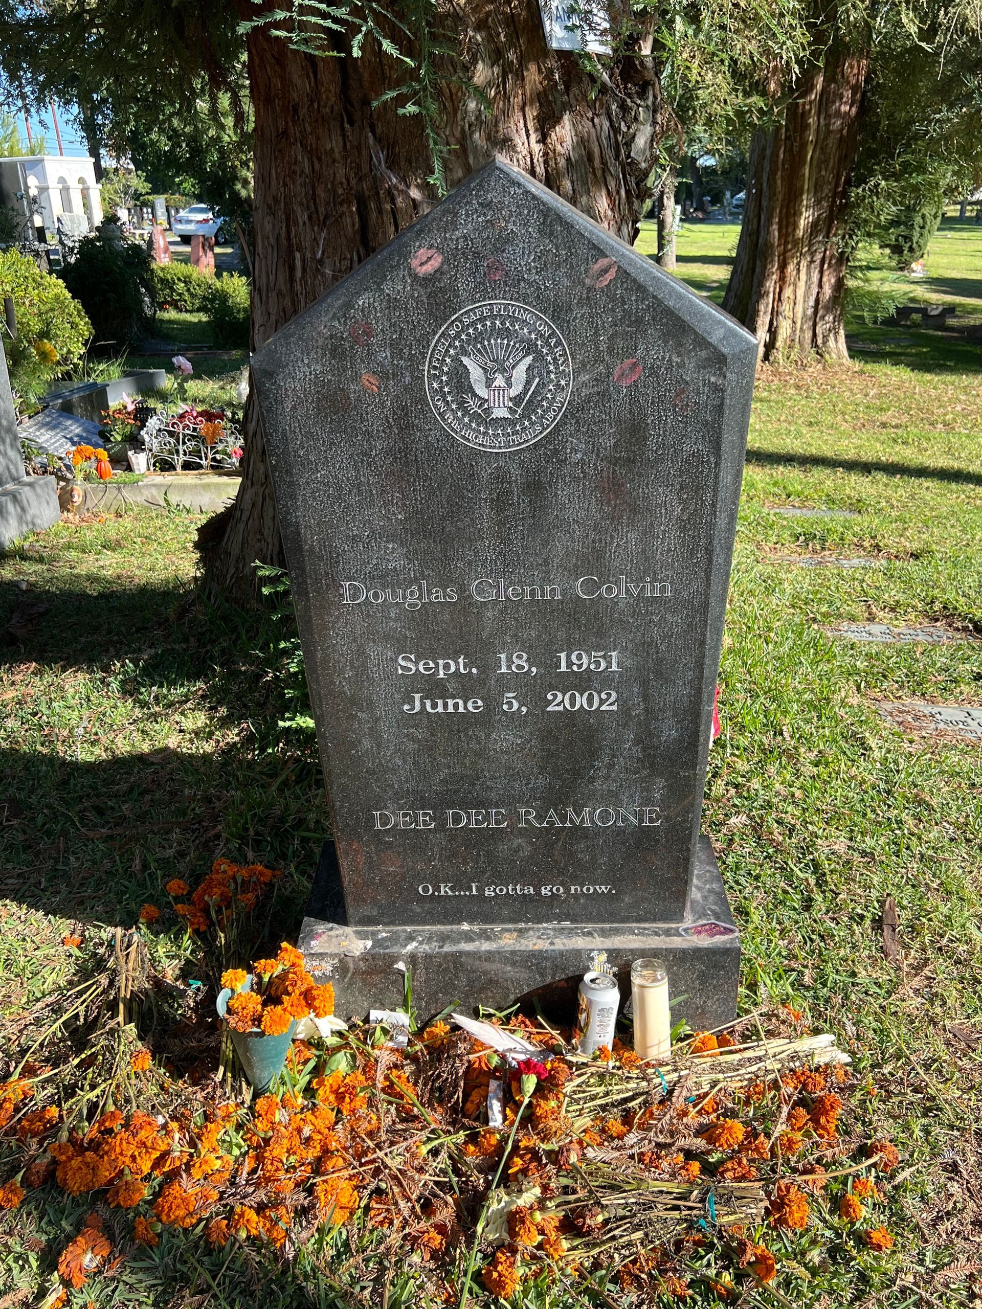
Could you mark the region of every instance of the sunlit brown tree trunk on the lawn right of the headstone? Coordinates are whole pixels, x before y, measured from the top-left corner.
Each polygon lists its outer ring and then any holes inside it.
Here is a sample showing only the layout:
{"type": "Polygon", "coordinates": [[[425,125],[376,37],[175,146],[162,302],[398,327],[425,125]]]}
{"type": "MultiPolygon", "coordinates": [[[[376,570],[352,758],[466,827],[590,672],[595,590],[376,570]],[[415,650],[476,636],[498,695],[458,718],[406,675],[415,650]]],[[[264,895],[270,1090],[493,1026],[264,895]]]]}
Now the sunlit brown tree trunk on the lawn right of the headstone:
{"type": "Polygon", "coordinates": [[[846,360],[843,211],[859,144],[867,60],[805,75],[782,127],[750,143],[744,224],[723,308],[761,360],[846,360]]]}

